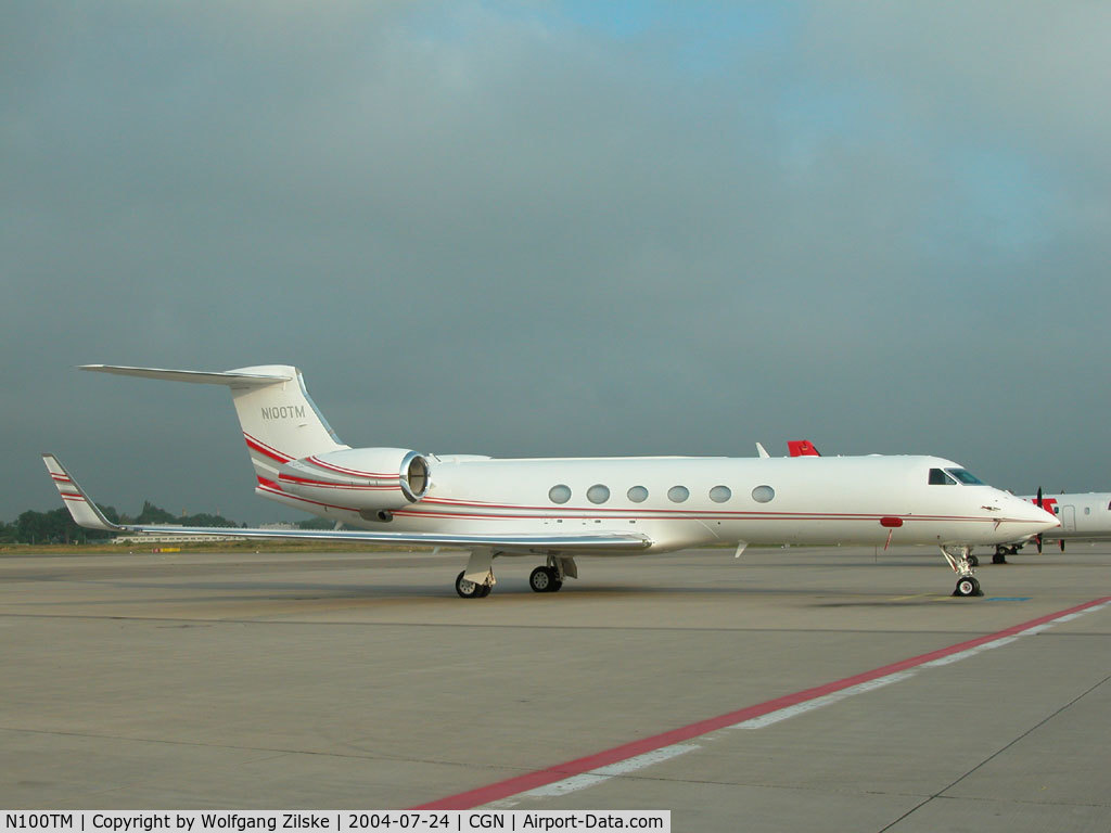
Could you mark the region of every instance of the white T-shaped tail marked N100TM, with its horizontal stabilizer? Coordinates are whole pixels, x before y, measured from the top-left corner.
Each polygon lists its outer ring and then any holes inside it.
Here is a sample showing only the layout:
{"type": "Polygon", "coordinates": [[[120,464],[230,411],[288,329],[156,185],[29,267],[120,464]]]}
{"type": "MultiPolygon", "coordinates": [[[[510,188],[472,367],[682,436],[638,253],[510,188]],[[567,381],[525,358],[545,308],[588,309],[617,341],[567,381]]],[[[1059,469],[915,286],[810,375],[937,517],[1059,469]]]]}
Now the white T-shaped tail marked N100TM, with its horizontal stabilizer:
{"type": "Polygon", "coordinates": [[[222,384],[231,391],[243,439],[259,478],[276,480],[278,466],[290,460],[347,449],[304,388],[301,371],[288,364],[264,364],[224,372],[84,364],[81,370],[171,382],[222,384]]]}

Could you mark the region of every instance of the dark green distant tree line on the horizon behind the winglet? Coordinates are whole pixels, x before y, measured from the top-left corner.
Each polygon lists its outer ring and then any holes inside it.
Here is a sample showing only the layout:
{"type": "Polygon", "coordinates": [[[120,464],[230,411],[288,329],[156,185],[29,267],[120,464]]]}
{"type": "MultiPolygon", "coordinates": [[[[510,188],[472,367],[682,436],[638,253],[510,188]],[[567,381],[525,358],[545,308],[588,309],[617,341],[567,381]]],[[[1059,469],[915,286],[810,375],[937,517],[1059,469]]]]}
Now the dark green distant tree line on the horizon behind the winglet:
{"type": "MultiPolygon", "coordinates": [[[[99,506],[100,504],[98,504],[99,506]]],[[[142,511],[134,516],[120,514],[114,506],[100,506],[100,511],[112,523],[176,524],[179,526],[246,526],[229,521],[223,515],[200,512],[194,515],[176,516],[150,501],[143,501],[142,511]]],[[[322,518],[302,521],[302,529],[331,529],[331,521],[322,518]]],[[[72,544],[111,541],[112,532],[100,532],[78,526],[64,506],[49,512],[28,510],[11,523],[0,522],[0,544],[72,544]]]]}

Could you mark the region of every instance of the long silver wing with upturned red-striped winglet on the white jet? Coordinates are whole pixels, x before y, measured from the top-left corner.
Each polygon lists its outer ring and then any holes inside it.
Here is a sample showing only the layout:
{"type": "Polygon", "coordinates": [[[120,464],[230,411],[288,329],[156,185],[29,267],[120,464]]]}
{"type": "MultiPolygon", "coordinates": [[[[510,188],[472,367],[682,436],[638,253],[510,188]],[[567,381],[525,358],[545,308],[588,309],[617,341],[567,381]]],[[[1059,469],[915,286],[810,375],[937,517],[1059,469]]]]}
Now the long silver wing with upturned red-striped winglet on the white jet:
{"type": "Polygon", "coordinates": [[[417,546],[493,546],[502,550],[560,550],[568,552],[638,551],[651,546],[647,535],[620,532],[600,532],[590,535],[577,533],[544,534],[458,534],[446,532],[378,532],[373,530],[262,530],[238,526],[167,526],[112,523],[78,485],[53,454],[43,454],[62,502],[79,526],[102,532],[130,534],[227,535],[229,538],[298,541],[362,541],[377,544],[417,546]]]}

